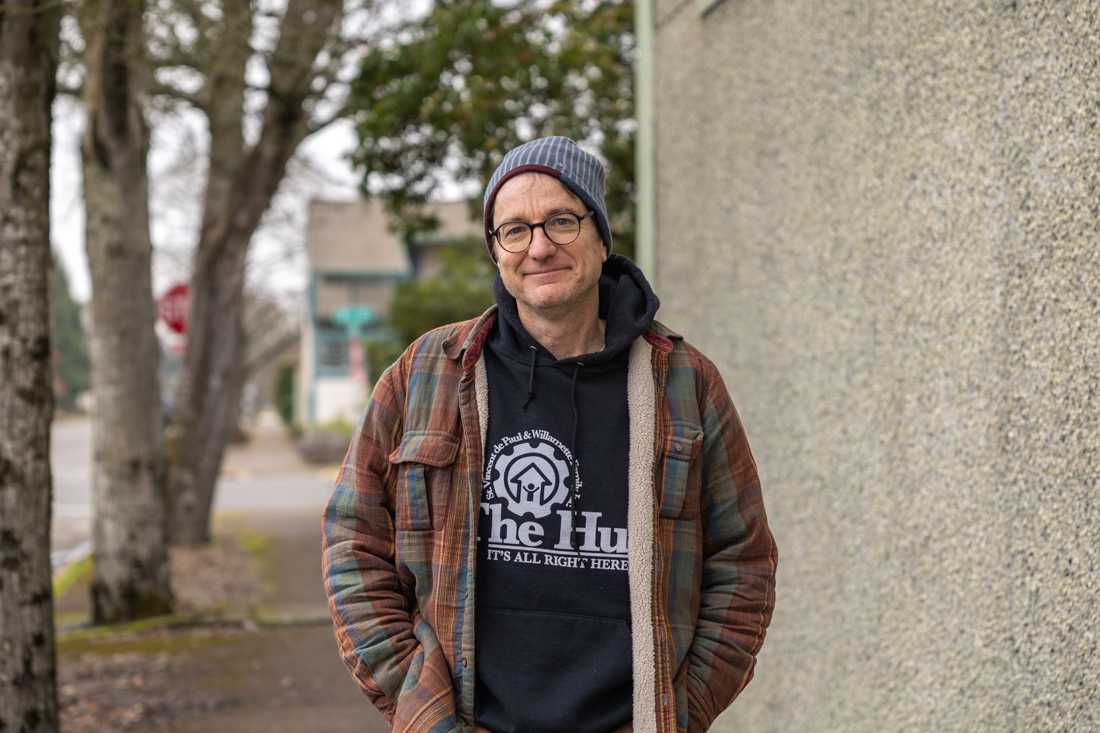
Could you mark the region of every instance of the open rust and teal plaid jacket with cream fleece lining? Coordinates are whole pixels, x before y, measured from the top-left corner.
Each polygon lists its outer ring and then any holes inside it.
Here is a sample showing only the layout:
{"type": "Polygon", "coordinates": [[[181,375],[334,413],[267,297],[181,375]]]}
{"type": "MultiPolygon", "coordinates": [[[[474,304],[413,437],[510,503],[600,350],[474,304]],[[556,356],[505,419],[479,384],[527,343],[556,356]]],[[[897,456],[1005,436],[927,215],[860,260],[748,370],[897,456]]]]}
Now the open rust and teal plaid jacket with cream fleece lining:
{"type": "MultiPolygon", "coordinates": [[[[341,657],[395,731],[473,727],[481,352],[495,318],[432,330],[382,374],[322,517],[341,657]]],[[[627,384],[632,725],[705,731],[752,677],[776,543],[714,364],[654,324],[627,384]]]]}

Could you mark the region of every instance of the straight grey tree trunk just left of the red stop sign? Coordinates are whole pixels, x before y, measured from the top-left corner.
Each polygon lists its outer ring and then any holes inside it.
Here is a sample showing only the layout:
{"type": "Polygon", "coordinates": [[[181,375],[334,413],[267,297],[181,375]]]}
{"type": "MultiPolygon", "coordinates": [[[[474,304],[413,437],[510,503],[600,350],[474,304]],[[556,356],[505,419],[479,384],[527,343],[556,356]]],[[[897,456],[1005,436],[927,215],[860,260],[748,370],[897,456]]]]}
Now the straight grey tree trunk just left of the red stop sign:
{"type": "Polygon", "coordinates": [[[160,348],[142,111],[141,0],[89,0],[81,145],[91,338],[95,501],[92,621],[169,613],[160,348]]]}

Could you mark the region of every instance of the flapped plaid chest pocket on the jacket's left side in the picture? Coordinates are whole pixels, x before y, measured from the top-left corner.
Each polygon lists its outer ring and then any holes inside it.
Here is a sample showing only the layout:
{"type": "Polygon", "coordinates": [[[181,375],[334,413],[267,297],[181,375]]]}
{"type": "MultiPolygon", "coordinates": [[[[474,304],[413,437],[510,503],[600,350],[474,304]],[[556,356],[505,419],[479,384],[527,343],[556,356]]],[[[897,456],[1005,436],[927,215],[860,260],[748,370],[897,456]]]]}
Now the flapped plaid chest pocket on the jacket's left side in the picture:
{"type": "Polygon", "coordinates": [[[451,468],[459,452],[453,435],[410,431],[389,455],[397,473],[395,510],[398,529],[439,529],[451,494],[451,468]]]}

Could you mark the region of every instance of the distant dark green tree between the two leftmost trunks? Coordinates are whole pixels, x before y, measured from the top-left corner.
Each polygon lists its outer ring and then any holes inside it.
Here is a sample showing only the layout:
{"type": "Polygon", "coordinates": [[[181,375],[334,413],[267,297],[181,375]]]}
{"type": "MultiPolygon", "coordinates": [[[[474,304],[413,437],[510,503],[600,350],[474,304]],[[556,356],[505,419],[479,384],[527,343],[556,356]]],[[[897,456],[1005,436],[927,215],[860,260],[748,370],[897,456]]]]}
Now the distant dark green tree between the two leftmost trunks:
{"type": "Polygon", "coordinates": [[[69,293],[68,277],[56,255],[50,269],[50,338],[59,382],[57,406],[75,409],[76,396],[91,384],[91,363],[80,306],[69,293]]]}

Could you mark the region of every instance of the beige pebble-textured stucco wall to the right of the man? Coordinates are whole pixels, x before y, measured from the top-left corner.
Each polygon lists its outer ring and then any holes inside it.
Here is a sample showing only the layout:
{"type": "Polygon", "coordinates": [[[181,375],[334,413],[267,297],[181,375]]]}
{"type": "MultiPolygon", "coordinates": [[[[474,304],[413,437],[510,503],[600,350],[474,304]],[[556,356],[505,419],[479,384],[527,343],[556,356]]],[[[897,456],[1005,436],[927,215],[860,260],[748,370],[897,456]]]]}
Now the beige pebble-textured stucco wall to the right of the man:
{"type": "Polygon", "coordinates": [[[1100,730],[1100,3],[657,2],[659,317],[780,547],[718,731],[1100,730]]]}

